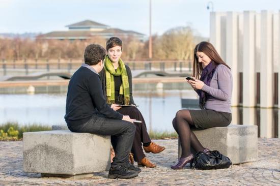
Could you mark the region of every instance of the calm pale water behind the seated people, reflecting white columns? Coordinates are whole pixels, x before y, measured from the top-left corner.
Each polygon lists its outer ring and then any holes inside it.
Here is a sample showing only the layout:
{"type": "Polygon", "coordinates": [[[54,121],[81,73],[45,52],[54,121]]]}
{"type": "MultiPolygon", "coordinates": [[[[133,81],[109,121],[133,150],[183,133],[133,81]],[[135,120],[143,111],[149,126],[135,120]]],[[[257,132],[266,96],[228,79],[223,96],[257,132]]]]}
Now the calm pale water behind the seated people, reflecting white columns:
{"type": "MultiPolygon", "coordinates": [[[[182,98],[195,99],[193,90],[148,90],[133,92],[148,130],[174,131],[172,119],[182,109],[182,98]]],[[[144,87],[143,87],[144,89],[144,87]]],[[[148,88],[149,89],[149,88],[148,88]]],[[[18,122],[19,125],[65,125],[66,94],[0,95],[0,123],[18,122]]],[[[280,109],[233,107],[232,124],[258,125],[259,137],[279,136],[280,109]]]]}

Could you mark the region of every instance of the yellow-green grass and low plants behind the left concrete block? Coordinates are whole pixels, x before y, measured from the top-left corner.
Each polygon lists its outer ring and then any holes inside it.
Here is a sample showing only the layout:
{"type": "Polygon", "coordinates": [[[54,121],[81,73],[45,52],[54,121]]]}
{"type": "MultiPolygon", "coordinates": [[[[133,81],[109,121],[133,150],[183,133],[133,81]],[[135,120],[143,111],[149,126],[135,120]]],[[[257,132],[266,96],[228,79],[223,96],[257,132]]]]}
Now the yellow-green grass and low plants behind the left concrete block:
{"type": "Polygon", "coordinates": [[[22,139],[24,132],[50,131],[50,126],[38,124],[20,126],[17,122],[7,122],[0,125],[0,141],[16,141],[22,139]]]}

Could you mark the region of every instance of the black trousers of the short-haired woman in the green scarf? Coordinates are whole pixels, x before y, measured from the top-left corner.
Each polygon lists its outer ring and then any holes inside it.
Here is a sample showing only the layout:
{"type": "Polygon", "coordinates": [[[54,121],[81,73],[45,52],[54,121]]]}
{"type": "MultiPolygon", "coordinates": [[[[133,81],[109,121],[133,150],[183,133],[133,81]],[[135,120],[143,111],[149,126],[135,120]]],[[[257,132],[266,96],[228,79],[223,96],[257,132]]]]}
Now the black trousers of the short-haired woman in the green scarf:
{"type": "Polygon", "coordinates": [[[133,153],[134,161],[139,162],[143,158],[145,158],[145,154],[143,152],[142,143],[151,142],[150,136],[147,132],[146,123],[143,115],[136,107],[122,107],[117,110],[123,115],[129,115],[131,119],[141,120],[142,123],[134,123],[136,126],[135,136],[131,148],[131,152],[133,153]]]}

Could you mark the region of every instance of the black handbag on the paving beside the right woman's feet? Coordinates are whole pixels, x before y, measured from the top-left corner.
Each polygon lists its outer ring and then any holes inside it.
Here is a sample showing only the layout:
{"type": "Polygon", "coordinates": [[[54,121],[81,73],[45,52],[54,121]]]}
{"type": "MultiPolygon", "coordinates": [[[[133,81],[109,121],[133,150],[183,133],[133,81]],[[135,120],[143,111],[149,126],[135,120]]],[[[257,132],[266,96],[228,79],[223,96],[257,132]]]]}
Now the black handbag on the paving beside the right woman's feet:
{"type": "Polygon", "coordinates": [[[232,165],[231,160],[218,150],[198,152],[195,154],[191,168],[193,169],[226,169],[232,165]]]}

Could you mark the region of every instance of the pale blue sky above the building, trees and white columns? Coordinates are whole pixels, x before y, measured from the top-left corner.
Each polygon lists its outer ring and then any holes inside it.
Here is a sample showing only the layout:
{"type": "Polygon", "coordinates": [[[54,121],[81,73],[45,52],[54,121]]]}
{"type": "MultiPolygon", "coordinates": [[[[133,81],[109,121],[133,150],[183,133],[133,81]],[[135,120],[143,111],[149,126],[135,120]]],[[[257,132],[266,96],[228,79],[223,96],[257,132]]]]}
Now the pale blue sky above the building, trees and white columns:
{"type": "MultiPolygon", "coordinates": [[[[0,0],[0,33],[48,33],[67,30],[66,25],[93,20],[124,30],[149,35],[150,0],[0,0]]],[[[151,0],[152,34],[190,25],[209,37],[210,1],[151,0]]],[[[280,0],[216,0],[215,12],[280,10],[280,0]]]]}

